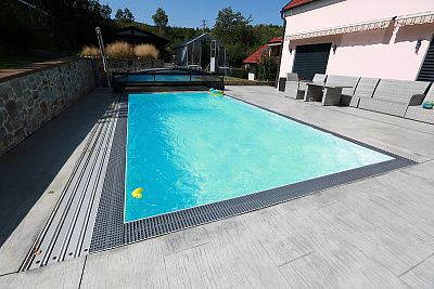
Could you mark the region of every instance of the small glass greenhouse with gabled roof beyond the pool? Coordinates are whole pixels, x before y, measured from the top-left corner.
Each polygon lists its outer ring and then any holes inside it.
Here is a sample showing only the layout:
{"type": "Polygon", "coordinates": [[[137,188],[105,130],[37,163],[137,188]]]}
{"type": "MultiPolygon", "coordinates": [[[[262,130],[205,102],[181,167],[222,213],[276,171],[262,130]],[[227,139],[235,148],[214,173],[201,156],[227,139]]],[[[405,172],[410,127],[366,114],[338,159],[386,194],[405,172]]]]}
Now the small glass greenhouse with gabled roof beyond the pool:
{"type": "Polygon", "coordinates": [[[174,50],[176,64],[179,66],[196,67],[212,73],[227,66],[224,43],[208,32],[187,39],[174,50]]]}

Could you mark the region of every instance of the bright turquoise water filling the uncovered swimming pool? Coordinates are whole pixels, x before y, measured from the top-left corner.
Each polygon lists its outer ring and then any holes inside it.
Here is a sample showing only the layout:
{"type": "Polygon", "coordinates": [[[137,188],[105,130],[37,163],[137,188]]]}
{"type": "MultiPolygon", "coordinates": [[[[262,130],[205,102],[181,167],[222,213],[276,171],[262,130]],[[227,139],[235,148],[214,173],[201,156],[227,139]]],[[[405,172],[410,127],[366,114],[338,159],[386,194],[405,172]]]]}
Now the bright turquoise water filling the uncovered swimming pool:
{"type": "Polygon", "coordinates": [[[130,94],[128,109],[126,222],[393,159],[227,96],[130,94]]]}

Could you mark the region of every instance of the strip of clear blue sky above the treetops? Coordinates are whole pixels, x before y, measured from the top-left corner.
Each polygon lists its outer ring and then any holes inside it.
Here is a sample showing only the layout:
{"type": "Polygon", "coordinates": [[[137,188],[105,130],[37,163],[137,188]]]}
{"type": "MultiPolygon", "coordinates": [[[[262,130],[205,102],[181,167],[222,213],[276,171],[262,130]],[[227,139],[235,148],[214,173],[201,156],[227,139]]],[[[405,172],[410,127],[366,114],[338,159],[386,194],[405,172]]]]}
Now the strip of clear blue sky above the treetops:
{"type": "Polygon", "coordinates": [[[207,21],[207,27],[213,27],[218,11],[231,6],[245,17],[252,14],[253,24],[282,25],[280,10],[289,0],[100,0],[112,8],[112,17],[117,9],[128,8],[136,21],[153,25],[152,15],[157,8],[163,8],[169,16],[170,26],[200,27],[201,21],[207,21]]]}

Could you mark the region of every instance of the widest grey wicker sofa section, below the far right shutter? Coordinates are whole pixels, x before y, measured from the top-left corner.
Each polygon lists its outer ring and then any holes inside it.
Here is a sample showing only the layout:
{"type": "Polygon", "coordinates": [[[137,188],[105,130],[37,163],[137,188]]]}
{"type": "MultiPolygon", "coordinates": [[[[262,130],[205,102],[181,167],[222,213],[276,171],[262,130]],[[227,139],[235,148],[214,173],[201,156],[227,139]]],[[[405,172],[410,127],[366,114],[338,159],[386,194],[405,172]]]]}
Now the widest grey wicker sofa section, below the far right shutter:
{"type": "Polygon", "coordinates": [[[408,106],[423,101],[430,82],[381,79],[372,98],[360,98],[359,108],[404,117],[408,106]]]}

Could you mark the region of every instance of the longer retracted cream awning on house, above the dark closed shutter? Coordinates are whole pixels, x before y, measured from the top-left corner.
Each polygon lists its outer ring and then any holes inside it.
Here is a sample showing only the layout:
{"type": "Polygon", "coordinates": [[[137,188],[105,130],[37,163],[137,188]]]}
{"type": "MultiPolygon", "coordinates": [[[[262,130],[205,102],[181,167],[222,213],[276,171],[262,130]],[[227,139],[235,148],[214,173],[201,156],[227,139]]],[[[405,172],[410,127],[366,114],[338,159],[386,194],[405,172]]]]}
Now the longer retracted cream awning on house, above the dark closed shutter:
{"type": "Polygon", "coordinates": [[[374,30],[374,29],[384,29],[384,28],[387,28],[392,22],[393,22],[393,18],[385,18],[385,19],[378,19],[378,21],[358,23],[358,24],[353,24],[353,25],[331,27],[331,28],[321,29],[321,30],[306,31],[306,32],[301,32],[301,34],[295,34],[295,35],[288,35],[288,36],[285,36],[285,40],[296,40],[296,39],[306,39],[306,38],[331,36],[331,35],[368,31],[368,30],[374,30]]]}

